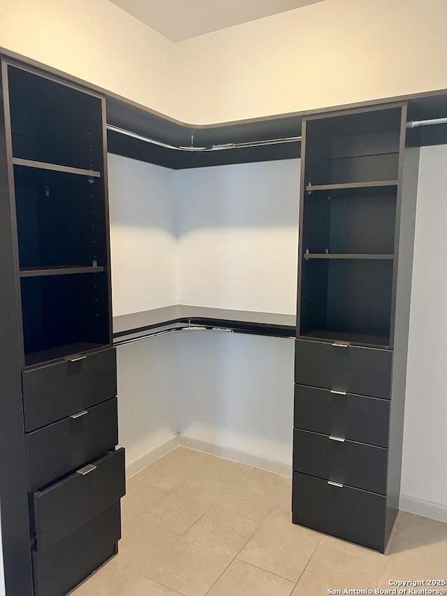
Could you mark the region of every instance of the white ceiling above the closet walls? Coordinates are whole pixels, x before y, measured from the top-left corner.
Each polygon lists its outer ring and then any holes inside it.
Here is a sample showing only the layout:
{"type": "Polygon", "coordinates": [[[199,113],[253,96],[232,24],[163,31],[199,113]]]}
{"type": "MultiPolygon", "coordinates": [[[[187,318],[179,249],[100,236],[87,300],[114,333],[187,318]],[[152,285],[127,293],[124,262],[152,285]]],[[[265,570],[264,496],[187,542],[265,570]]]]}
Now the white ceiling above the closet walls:
{"type": "Polygon", "coordinates": [[[323,0],[110,0],[170,41],[233,27],[323,0]]]}

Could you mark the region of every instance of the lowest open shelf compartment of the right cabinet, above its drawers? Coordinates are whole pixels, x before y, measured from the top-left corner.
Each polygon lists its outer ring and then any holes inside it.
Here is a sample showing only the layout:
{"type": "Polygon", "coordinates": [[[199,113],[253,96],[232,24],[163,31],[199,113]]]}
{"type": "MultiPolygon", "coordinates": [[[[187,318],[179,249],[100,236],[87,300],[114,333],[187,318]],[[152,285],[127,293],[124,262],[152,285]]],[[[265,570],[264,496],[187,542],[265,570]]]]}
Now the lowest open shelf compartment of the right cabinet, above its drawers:
{"type": "Polygon", "coordinates": [[[390,344],[393,261],[302,261],[300,337],[390,344]]]}

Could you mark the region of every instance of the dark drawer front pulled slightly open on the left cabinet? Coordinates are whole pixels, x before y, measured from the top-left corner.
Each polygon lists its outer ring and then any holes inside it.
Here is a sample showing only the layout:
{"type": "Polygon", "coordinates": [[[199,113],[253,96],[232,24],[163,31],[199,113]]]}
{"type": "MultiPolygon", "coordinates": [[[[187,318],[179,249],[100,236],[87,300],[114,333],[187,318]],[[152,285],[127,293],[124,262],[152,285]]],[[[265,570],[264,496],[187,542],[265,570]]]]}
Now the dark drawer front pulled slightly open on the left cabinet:
{"type": "Polygon", "coordinates": [[[60,542],[111,507],[125,492],[124,449],[118,449],[34,493],[36,550],[45,551],[60,542]]]}

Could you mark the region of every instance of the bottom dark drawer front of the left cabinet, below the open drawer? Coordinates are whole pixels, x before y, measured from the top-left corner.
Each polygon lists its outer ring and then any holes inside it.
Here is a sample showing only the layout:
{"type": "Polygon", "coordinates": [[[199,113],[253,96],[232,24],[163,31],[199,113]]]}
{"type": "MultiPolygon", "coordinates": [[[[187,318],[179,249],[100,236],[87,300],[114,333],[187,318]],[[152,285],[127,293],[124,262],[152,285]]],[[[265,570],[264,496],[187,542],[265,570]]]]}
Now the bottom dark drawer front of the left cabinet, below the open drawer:
{"type": "Polygon", "coordinates": [[[115,553],[119,502],[43,552],[33,552],[35,596],[63,596],[115,553]]]}

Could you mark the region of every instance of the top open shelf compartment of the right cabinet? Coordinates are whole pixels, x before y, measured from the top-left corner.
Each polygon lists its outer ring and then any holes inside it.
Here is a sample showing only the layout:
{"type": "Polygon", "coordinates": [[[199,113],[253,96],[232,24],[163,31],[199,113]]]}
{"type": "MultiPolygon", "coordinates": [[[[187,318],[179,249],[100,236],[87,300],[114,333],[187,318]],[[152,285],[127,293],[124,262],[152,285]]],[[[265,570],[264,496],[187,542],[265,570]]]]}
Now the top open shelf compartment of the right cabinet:
{"type": "Polygon", "coordinates": [[[305,185],[396,181],[401,108],[306,122],[305,185]]]}

